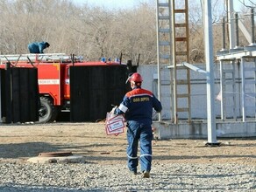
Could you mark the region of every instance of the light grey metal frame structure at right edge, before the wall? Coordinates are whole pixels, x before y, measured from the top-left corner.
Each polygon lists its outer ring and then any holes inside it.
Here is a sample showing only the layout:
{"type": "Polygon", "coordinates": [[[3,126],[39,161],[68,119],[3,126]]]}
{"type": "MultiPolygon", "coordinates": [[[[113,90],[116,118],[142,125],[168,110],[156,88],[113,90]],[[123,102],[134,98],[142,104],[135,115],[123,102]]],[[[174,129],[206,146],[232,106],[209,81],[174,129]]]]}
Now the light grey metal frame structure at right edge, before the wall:
{"type": "Polygon", "coordinates": [[[225,53],[223,55],[218,55],[217,60],[220,62],[220,74],[221,74],[221,79],[220,79],[220,87],[221,87],[221,119],[226,120],[226,101],[230,97],[228,93],[226,93],[225,86],[227,86],[228,81],[224,78],[225,73],[230,72],[232,75],[232,96],[231,98],[234,100],[234,104],[236,103],[235,99],[235,93],[239,93],[239,100],[240,100],[240,107],[239,109],[234,106],[233,108],[233,119],[238,120],[238,116],[242,117],[242,121],[246,122],[247,120],[256,120],[256,46],[252,47],[250,46],[250,50],[245,50],[244,51],[238,51],[238,52],[231,52],[231,53],[225,53]],[[247,65],[247,60],[251,59],[252,60],[252,66],[247,65]],[[229,70],[225,70],[223,65],[234,65],[238,64],[238,72],[236,72],[236,67],[233,67],[232,72],[229,70]],[[248,79],[246,77],[246,72],[252,72],[253,77],[248,79]],[[235,73],[238,73],[240,78],[238,79],[240,81],[240,85],[238,90],[234,86],[235,84],[235,73]],[[250,88],[248,87],[250,86],[250,88]],[[250,103],[248,102],[248,99],[253,99],[254,100],[254,106],[249,105],[250,103]],[[248,107],[254,107],[254,116],[248,115],[247,114],[247,109],[248,107]],[[237,115],[238,113],[238,115],[237,115]]]}

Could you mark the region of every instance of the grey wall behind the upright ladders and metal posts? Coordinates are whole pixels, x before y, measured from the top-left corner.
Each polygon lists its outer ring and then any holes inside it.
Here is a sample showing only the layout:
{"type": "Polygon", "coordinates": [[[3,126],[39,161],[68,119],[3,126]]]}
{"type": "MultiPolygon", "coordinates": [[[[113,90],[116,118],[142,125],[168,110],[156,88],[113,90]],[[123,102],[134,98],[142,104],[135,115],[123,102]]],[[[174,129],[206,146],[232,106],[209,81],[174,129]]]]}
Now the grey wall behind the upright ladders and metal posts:
{"type": "MultiPolygon", "coordinates": [[[[252,62],[248,62],[247,67],[252,67],[254,65],[254,63],[252,62]]],[[[196,66],[198,66],[199,68],[205,70],[205,65],[204,64],[196,64],[196,66]]],[[[215,74],[215,94],[216,97],[218,95],[218,93],[220,93],[220,71],[219,71],[219,64],[216,63],[214,68],[214,74],[215,74]]],[[[228,64],[226,64],[226,67],[228,66],[228,64]]],[[[239,71],[238,69],[238,65],[236,65],[236,72],[239,71]]],[[[153,91],[153,93],[157,96],[157,65],[140,65],[138,68],[138,72],[142,75],[143,77],[143,84],[142,87],[149,89],[151,91],[153,91]]],[[[161,77],[161,92],[163,94],[163,97],[161,98],[161,103],[163,105],[163,110],[162,110],[162,116],[163,116],[163,120],[171,120],[171,111],[170,111],[170,69],[165,68],[163,70],[163,76],[161,77]]],[[[185,75],[185,74],[181,74],[181,75],[185,75]]],[[[200,73],[200,72],[195,72],[195,71],[191,71],[191,117],[193,119],[203,119],[206,120],[207,119],[207,91],[206,91],[206,76],[204,73],[200,73]]],[[[246,73],[246,78],[248,79],[253,79],[254,77],[254,71],[252,72],[248,72],[246,73]]],[[[230,85],[229,85],[230,86],[230,85]]],[[[239,78],[239,74],[236,74],[236,87],[237,90],[239,90],[239,86],[240,85],[240,78],[239,78]]],[[[248,85],[247,88],[247,92],[253,92],[255,87],[255,84],[251,84],[248,85]]],[[[240,107],[240,101],[239,101],[239,97],[241,95],[241,93],[236,92],[236,93],[229,93],[229,94],[235,94],[236,99],[237,99],[237,105],[238,107],[240,107]]],[[[247,97],[246,101],[248,102],[249,106],[252,106],[251,108],[247,108],[246,113],[248,114],[248,116],[254,116],[255,115],[255,98],[250,98],[247,97]]],[[[232,102],[232,99],[227,99],[225,100],[225,104],[226,104],[226,114],[227,117],[232,117],[233,116],[233,105],[234,103],[232,102]]],[[[220,118],[221,116],[221,103],[219,100],[216,99],[215,102],[215,111],[216,111],[216,116],[217,118],[220,118]]],[[[239,116],[239,112],[237,112],[236,114],[237,116],[239,116]]],[[[158,120],[158,116],[155,116],[155,120],[158,120]]],[[[186,119],[185,115],[180,116],[181,119],[186,119]]]]}

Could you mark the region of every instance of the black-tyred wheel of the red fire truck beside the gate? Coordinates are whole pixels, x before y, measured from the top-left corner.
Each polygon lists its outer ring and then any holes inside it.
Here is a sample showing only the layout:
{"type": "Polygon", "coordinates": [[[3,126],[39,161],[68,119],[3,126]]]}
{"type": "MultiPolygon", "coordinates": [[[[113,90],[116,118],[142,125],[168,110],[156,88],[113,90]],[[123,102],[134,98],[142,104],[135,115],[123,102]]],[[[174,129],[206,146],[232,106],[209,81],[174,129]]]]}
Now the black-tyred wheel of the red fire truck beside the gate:
{"type": "Polygon", "coordinates": [[[56,119],[58,110],[53,106],[51,99],[40,97],[39,122],[52,122],[56,119]]]}

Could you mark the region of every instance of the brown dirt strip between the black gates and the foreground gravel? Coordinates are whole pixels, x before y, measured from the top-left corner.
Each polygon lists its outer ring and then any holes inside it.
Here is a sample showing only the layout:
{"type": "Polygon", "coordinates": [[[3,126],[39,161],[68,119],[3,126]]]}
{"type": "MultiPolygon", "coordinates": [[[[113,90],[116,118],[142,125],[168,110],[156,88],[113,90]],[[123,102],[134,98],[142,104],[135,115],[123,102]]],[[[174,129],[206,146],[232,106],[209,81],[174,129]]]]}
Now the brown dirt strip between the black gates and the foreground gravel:
{"type": "MultiPolygon", "coordinates": [[[[153,141],[153,163],[238,163],[256,165],[255,138],[153,141]]],[[[126,162],[126,134],[107,135],[104,123],[0,124],[0,162],[25,162],[46,152],[72,152],[100,164],[126,162]]]]}

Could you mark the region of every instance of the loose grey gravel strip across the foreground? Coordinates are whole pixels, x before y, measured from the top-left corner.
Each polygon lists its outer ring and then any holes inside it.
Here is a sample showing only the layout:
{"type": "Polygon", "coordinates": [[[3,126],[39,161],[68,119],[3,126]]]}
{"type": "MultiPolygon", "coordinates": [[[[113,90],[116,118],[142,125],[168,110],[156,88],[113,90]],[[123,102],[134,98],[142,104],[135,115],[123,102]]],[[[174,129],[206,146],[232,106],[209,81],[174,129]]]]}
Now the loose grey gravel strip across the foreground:
{"type": "Polygon", "coordinates": [[[151,178],[123,165],[1,163],[0,191],[256,191],[255,166],[157,164],[151,178]]]}

